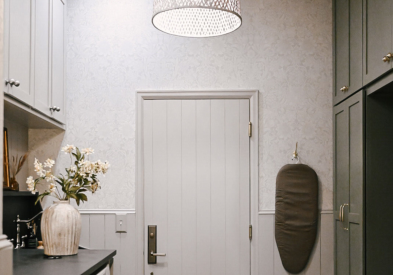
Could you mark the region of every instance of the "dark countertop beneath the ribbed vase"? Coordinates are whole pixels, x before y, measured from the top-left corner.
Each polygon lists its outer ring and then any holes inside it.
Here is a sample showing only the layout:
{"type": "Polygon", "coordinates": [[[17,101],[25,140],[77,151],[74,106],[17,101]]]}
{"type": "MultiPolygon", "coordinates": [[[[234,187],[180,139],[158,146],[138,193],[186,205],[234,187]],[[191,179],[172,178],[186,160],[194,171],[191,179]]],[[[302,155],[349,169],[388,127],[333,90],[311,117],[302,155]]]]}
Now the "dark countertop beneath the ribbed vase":
{"type": "Polygon", "coordinates": [[[109,263],[116,250],[79,249],[77,255],[45,259],[43,249],[14,250],[14,275],[90,275],[109,263]]]}

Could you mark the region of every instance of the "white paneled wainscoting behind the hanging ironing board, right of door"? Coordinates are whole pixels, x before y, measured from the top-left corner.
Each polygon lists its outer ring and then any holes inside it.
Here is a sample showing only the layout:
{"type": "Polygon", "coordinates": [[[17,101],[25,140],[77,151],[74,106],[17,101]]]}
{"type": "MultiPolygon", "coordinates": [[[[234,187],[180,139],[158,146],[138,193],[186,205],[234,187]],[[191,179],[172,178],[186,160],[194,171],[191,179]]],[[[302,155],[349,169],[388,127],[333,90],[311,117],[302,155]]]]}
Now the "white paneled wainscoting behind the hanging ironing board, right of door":
{"type": "MultiPolygon", "coordinates": [[[[259,215],[259,275],[287,275],[274,237],[274,211],[259,215]]],[[[334,274],[334,232],[332,211],[322,211],[317,242],[302,275],[334,274]]]]}

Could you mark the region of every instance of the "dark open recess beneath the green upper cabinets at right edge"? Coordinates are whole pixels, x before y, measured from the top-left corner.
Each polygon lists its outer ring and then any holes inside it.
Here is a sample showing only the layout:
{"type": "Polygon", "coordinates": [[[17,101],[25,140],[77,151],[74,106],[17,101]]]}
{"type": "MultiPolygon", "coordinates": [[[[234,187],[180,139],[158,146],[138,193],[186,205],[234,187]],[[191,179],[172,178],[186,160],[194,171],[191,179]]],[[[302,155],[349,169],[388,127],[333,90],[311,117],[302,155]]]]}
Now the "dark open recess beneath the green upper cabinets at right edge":
{"type": "Polygon", "coordinates": [[[366,269],[393,274],[393,84],[366,98],[366,269]]]}

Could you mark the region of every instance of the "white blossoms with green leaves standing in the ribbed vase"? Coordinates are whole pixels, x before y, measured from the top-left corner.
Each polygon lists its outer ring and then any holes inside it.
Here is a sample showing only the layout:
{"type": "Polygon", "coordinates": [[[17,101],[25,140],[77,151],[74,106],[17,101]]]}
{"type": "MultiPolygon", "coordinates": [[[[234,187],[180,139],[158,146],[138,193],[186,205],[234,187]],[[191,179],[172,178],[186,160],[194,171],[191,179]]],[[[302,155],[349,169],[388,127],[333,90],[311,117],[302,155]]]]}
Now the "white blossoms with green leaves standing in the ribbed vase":
{"type": "Polygon", "coordinates": [[[55,165],[55,161],[52,159],[48,158],[43,164],[38,159],[34,161],[34,170],[38,178],[28,177],[27,189],[35,194],[37,184],[44,181],[49,184],[48,189],[38,196],[36,203],[45,196],[53,196],[59,200],[75,199],[79,205],[80,201],[87,201],[87,196],[84,194],[86,191],[95,193],[101,188],[97,177],[100,174],[105,175],[108,171],[110,164],[107,161],[90,161],[89,155],[94,153],[92,148],[79,150],[74,145],[67,145],[61,150],[71,158],[71,166],[65,169],[66,175],[53,175],[52,167],[55,165]],[[74,158],[75,160],[73,160],[74,158]]]}

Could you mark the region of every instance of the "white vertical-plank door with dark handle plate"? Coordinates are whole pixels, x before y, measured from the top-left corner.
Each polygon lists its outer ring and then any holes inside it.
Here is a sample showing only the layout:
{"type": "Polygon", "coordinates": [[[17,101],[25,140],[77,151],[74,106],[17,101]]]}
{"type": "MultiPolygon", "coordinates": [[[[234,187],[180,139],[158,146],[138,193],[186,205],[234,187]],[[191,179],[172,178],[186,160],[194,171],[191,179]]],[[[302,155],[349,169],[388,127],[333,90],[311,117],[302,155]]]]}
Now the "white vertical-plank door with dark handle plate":
{"type": "Polygon", "coordinates": [[[250,274],[249,117],[248,99],[144,100],[145,275],[250,274]]]}

